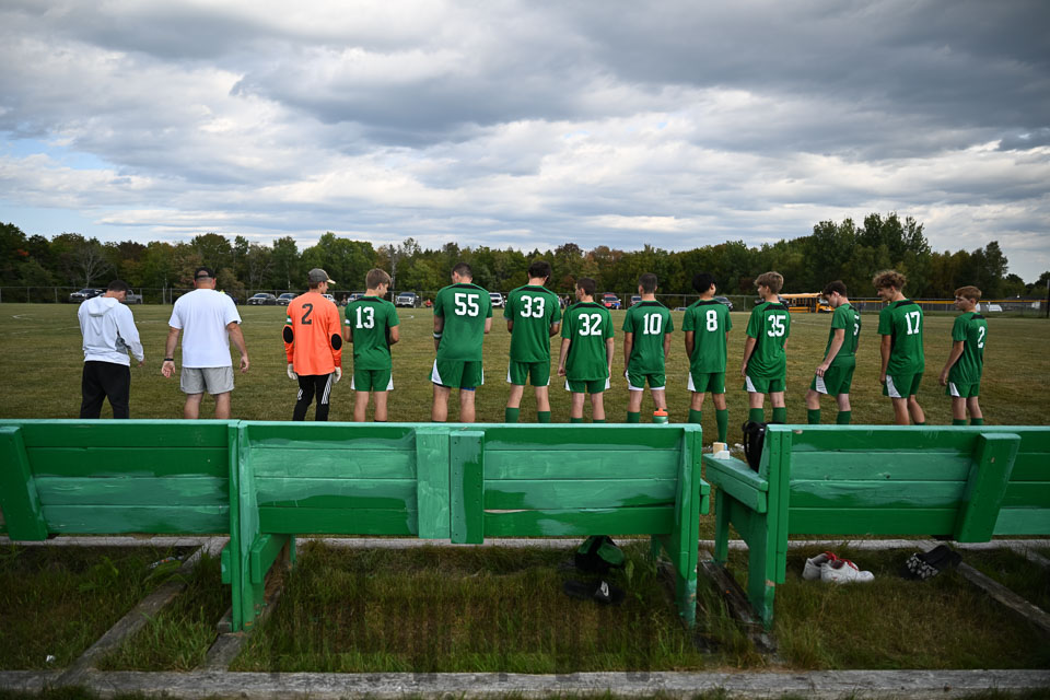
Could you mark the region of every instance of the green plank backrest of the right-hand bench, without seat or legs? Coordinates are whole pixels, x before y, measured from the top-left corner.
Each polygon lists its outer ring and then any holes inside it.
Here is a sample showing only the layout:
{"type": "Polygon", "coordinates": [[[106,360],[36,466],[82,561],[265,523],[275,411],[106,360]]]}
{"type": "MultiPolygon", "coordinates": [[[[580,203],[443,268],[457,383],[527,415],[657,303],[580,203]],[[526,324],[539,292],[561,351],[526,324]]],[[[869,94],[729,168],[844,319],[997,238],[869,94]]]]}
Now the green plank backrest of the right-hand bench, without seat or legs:
{"type": "Polygon", "coordinates": [[[1048,453],[1041,427],[771,425],[759,474],[789,534],[987,541],[1050,534],[1048,453]]]}

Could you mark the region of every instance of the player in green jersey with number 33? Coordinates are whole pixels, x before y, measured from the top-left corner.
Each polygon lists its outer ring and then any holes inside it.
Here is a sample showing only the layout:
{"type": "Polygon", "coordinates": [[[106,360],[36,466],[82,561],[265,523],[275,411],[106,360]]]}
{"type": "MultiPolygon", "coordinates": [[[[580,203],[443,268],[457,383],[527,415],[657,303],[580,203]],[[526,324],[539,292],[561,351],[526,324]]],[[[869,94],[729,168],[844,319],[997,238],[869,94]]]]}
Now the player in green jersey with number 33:
{"type": "Polygon", "coordinates": [[[550,422],[550,338],[561,328],[561,304],[558,295],[544,287],[550,279],[550,262],[534,260],[528,266],[528,284],[506,295],[503,317],[511,334],[511,362],[506,381],[511,396],[506,399],[504,420],[516,423],[532,378],[536,388],[536,419],[550,422]]]}

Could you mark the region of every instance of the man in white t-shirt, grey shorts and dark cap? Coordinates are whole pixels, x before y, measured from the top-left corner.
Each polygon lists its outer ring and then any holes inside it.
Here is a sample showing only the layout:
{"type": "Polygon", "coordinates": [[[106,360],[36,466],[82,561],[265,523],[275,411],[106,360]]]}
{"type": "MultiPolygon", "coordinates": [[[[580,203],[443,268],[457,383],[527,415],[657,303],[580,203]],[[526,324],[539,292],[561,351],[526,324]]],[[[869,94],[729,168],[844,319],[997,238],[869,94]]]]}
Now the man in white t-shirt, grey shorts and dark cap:
{"type": "Polygon", "coordinates": [[[175,373],[175,345],[183,334],[183,371],[179,388],[186,394],[183,417],[200,417],[200,400],[207,390],[215,397],[215,418],[230,418],[230,393],[233,390],[233,361],[230,342],[241,351],[241,373],[248,371],[248,350],[241,332],[241,315],[233,300],[215,291],[215,273],[208,267],[194,271],[196,289],[175,300],[164,364],[161,374],[175,373]]]}

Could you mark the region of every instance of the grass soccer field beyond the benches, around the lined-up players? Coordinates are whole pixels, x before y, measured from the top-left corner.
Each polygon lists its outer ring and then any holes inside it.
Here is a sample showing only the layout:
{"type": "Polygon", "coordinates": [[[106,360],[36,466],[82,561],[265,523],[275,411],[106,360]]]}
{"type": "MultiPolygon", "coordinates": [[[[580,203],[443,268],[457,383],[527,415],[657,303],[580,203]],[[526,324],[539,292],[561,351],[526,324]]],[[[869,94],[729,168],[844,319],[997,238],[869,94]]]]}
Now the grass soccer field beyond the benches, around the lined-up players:
{"type": "MultiPolygon", "coordinates": [[[[236,376],[233,393],[233,416],[254,420],[289,420],[295,402],[298,384],[284,373],[284,348],[281,328],[284,310],[280,306],[242,306],[244,336],[252,368],[236,376]]],[[[145,347],[145,366],[131,369],[132,418],[180,418],[183,395],[178,380],[165,380],[160,366],[167,335],[171,306],[133,306],[136,323],[145,347]]],[[[505,382],[510,334],[494,310],[492,332],[485,342],[486,384],[478,389],[477,416],[479,422],[502,422],[509,385],[505,382]]],[[[626,312],[614,311],[616,324],[616,360],[612,388],[606,392],[605,405],[610,422],[626,420],[627,381],[622,376],[622,332],[619,330],[626,312]]],[[[3,418],[75,418],[80,411],[80,376],[83,363],[77,306],[67,304],[3,304],[0,330],[0,417],[3,418]]],[[[428,310],[399,310],[401,341],[394,347],[394,392],[389,399],[392,421],[429,421],[432,398],[430,370],[434,359],[432,315],[428,310]]],[[[686,389],[688,363],[681,332],[681,312],[673,312],[674,340],[667,366],[667,401],[672,422],[685,421],[689,410],[686,389]]],[[[928,315],[924,334],[926,372],[919,400],[926,411],[926,421],[950,424],[950,400],[937,384],[941,368],[950,347],[954,315],[928,315]]],[[[788,421],[806,422],[804,396],[813,371],[822,360],[827,345],[830,315],[792,316],[791,339],[788,346],[788,421]]],[[[878,319],[875,314],[863,316],[864,328],[858,351],[856,373],[851,393],[854,423],[892,422],[889,399],[882,396],[878,384],[878,319]]],[[[744,349],[745,313],[733,314],[734,330],[730,334],[730,359],[726,398],[730,406],[730,436],[737,439],[739,424],[747,417],[747,395],[742,389],[739,364],[744,349]]],[[[552,366],[557,368],[560,338],[551,339],[552,366]]],[[[1050,322],[1037,318],[989,318],[989,340],[984,355],[984,377],[981,383],[981,407],[991,424],[1050,423],[1050,322]]],[[[176,361],[179,353],[176,352],[176,361]]],[[[236,363],[234,363],[236,364],[236,363]]],[[[332,390],[330,420],[350,420],[352,390],[350,389],[351,360],[345,353],[346,378],[332,390]]],[[[551,418],[556,422],[569,420],[569,394],[563,381],[551,380],[551,418]]],[[[836,409],[825,398],[824,422],[833,422],[836,409]]],[[[201,415],[210,417],[213,404],[206,399],[201,415]]],[[[109,411],[108,404],[103,416],[109,411]]],[[[590,408],[586,409],[590,411],[590,408]]],[[[652,411],[646,396],[642,404],[643,420],[652,411]]],[[[450,420],[458,413],[455,396],[450,401],[450,420]]],[[[313,415],[311,410],[310,416],[313,415]]],[[[588,415],[588,413],[586,413],[588,415]]],[[[767,419],[770,409],[767,405],[767,419]]],[[[526,389],[522,404],[522,422],[536,419],[535,398],[526,389]]],[[[703,427],[709,438],[715,434],[714,406],[710,397],[704,404],[703,427]]]]}

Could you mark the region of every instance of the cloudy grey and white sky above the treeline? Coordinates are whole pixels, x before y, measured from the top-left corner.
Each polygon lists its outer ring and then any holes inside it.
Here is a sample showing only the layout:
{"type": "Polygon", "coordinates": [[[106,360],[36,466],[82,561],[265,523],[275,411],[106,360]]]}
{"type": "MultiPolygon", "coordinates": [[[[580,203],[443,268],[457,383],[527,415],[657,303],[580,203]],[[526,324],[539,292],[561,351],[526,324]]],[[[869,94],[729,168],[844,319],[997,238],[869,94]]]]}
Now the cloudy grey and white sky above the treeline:
{"type": "Polygon", "coordinates": [[[897,211],[1050,269],[1050,2],[3,0],[0,221],[685,249],[897,211]]]}

